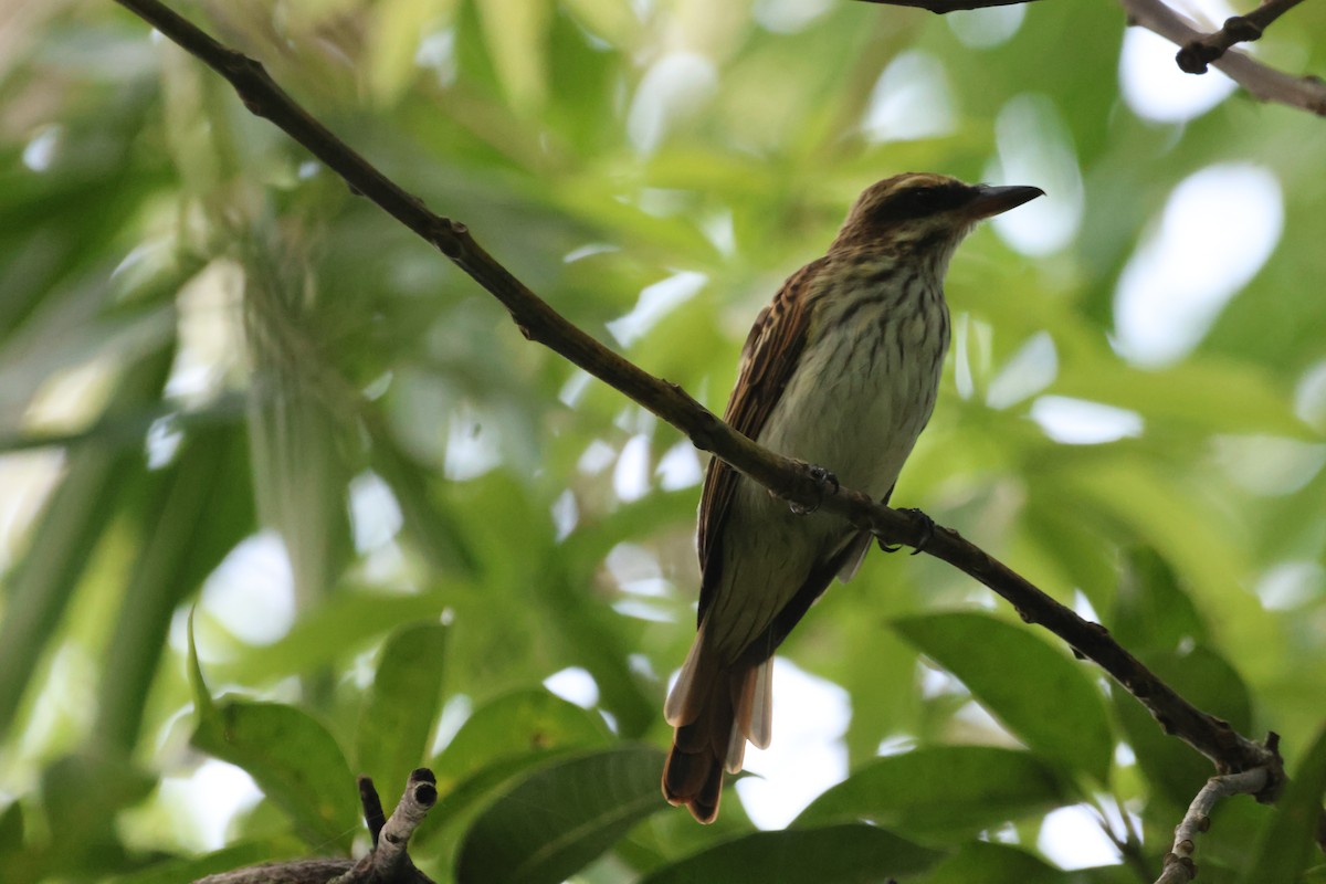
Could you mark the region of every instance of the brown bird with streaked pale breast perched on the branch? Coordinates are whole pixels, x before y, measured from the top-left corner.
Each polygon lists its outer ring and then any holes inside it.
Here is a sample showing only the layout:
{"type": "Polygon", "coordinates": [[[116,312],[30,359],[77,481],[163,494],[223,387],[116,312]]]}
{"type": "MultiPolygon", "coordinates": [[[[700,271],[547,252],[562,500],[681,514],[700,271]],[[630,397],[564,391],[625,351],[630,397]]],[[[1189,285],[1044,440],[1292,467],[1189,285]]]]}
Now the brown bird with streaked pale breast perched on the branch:
{"type": "MultiPolygon", "coordinates": [[[[841,481],[887,504],[935,408],[949,258],[977,221],[1037,196],[1037,187],[930,172],[867,187],[823,257],[756,318],[724,420],[805,463],[822,490],[841,481]]],[[[697,628],[664,705],[675,729],[663,769],[670,803],[700,823],[717,818],[723,773],[741,770],[747,742],[765,749],[773,736],[773,652],[834,577],[851,579],[870,542],[869,531],[789,506],[711,459],[697,628]]]]}

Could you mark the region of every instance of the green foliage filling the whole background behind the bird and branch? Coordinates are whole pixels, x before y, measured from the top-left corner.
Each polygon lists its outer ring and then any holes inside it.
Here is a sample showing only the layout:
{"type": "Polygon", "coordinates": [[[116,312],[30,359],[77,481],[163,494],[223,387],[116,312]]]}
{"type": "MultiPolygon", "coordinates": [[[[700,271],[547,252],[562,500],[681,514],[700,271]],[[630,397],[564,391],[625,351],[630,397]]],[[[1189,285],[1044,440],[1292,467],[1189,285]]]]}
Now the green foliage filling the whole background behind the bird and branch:
{"type": "MultiPolygon", "coordinates": [[[[1103,0],[179,5],[715,410],[754,313],[862,187],[903,170],[1045,187],[1021,233],[1010,217],[955,258],[955,354],[895,500],[1094,611],[1249,736],[1282,736],[1296,791],[1284,812],[1219,808],[1203,880],[1310,863],[1319,119],[1238,94],[1143,117],[1103,0]],[[1120,274],[1212,167],[1272,176],[1284,229],[1191,351],[1130,360],[1120,274]],[[1067,441],[1048,417],[1066,402],[1122,411],[1067,441]]],[[[1257,50],[1322,73],[1321,33],[1305,4],[1257,50]]],[[[692,634],[701,465],[679,433],[525,342],[109,0],[0,4],[0,46],[5,884],[362,850],[351,771],[390,804],[422,763],[440,801],[414,856],[439,881],[1154,877],[1209,765],[924,557],[876,555],[782,649],[850,698],[845,782],[785,831],[747,816],[768,791],[733,791],[711,828],[668,808],[660,706],[692,634]],[[566,669],[577,702],[544,687],[566,669]],[[233,812],[213,758],[264,793],[224,847],[202,822],[233,812]],[[1120,864],[1038,854],[1071,806],[1120,864]]],[[[1216,228],[1244,212],[1224,208],[1216,228]]]]}

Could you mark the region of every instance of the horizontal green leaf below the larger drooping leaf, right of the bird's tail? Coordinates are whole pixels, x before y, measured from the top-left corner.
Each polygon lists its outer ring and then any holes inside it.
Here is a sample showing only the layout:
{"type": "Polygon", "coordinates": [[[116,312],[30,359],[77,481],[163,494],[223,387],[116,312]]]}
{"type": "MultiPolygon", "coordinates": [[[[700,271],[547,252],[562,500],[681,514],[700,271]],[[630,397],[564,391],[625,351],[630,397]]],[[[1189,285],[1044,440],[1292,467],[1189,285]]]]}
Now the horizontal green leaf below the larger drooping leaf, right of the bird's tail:
{"type": "Polygon", "coordinates": [[[928,746],[862,765],[794,824],[867,820],[904,835],[951,840],[1066,801],[1055,771],[1030,753],[928,746]]]}

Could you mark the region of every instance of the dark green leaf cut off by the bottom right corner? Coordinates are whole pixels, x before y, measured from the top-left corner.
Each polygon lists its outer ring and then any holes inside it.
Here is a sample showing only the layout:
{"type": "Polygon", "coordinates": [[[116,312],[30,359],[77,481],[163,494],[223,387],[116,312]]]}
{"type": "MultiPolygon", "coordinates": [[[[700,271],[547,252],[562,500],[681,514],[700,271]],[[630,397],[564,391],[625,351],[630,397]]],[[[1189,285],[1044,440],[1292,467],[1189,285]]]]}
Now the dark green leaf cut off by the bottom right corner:
{"type": "Polygon", "coordinates": [[[1326,728],[1294,770],[1285,793],[1276,803],[1276,811],[1257,838],[1257,854],[1244,876],[1242,884],[1294,884],[1299,880],[1315,850],[1322,818],[1322,797],[1326,795],[1326,728]]]}

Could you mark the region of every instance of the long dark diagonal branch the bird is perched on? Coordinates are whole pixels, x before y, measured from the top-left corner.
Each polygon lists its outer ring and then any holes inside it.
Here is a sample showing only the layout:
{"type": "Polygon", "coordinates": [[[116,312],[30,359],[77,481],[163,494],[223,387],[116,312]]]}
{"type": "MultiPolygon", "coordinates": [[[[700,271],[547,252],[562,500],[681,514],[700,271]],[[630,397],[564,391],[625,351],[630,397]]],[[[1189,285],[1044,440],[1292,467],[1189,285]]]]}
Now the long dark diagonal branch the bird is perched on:
{"type": "Polygon", "coordinates": [[[822,498],[819,484],[804,464],[754,444],[719,420],[678,384],[643,371],[566,321],[495,261],[473,240],[464,224],[430,212],[419,199],[387,179],[313,119],[272,81],[261,64],[216,42],[158,0],[115,1],[225,77],[252,113],[272,121],[341,175],[355,192],[377,203],[455,261],[501,301],[526,338],[542,343],[623,392],[686,433],[696,448],[732,464],[776,494],[806,506],[819,504],[821,509],[842,516],[884,541],[924,546],[930,555],[948,562],[1008,599],[1024,620],[1044,626],[1082,656],[1099,664],[1155,716],[1166,733],[1184,740],[1207,755],[1217,771],[1238,773],[1265,767],[1268,785],[1258,798],[1274,798],[1284,782],[1281,759],[1274,746],[1248,740],[1228,722],[1189,704],[1120,647],[1103,627],[1083,620],[1006,565],[963,539],[957,531],[936,526],[931,533],[928,520],[923,516],[900,513],[851,489],[841,489],[837,494],[822,498]]]}

